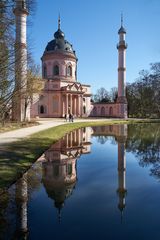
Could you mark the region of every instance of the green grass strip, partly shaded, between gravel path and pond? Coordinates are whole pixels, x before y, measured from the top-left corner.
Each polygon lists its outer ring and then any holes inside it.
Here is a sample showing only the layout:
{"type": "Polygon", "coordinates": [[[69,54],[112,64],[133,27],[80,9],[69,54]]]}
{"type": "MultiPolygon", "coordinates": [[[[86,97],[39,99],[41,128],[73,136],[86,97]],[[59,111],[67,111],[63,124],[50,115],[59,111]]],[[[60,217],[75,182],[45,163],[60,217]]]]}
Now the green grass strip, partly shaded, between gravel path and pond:
{"type": "MultiPolygon", "coordinates": [[[[126,120],[126,121],[99,121],[69,123],[38,132],[22,141],[13,142],[0,148],[0,193],[8,188],[47,150],[66,133],[87,126],[102,126],[111,124],[131,124],[157,122],[152,120],[126,120]]],[[[160,121],[159,121],[160,122],[160,121]]]]}

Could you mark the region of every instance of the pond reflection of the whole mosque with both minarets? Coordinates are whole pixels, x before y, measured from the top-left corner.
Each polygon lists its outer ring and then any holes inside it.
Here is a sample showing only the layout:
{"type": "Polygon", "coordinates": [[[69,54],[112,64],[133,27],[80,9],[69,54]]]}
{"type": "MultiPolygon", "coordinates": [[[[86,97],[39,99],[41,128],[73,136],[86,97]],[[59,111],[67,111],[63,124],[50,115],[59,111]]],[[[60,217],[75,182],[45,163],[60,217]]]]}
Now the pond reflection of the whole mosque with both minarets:
{"type": "MultiPolygon", "coordinates": [[[[92,135],[114,136],[117,141],[118,208],[121,213],[123,212],[127,192],[125,184],[125,142],[127,139],[127,125],[81,128],[66,134],[60,141],[53,144],[50,149],[38,159],[32,168],[8,190],[7,199],[9,200],[6,204],[7,206],[5,206],[5,220],[7,218],[6,229],[10,228],[11,230],[6,230],[7,236],[14,236],[15,238],[17,237],[17,239],[27,239],[28,199],[31,193],[40,187],[41,183],[43,183],[48,197],[54,200],[54,205],[58,209],[60,220],[61,209],[76,186],[77,160],[82,154],[91,152],[92,135]],[[12,209],[12,213],[10,209],[12,209]]],[[[4,236],[5,235],[6,234],[4,234],[4,236]]]]}

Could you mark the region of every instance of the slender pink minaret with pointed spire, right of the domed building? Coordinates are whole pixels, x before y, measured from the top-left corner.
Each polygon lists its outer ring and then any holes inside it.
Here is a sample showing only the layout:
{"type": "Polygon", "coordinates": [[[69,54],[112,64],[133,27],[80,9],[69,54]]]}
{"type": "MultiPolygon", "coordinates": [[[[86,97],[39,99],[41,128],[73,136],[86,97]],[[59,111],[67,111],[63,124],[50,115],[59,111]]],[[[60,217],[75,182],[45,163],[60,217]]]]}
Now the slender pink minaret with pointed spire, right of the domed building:
{"type": "Polygon", "coordinates": [[[126,99],[126,49],[127,44],[125,42],[126,30],[123,27],[123,16],[121,15],[121,27],[118,31],[119,43],[118,49],[118,110],[119,117],[127,118],[127,99],[126,99]]]}

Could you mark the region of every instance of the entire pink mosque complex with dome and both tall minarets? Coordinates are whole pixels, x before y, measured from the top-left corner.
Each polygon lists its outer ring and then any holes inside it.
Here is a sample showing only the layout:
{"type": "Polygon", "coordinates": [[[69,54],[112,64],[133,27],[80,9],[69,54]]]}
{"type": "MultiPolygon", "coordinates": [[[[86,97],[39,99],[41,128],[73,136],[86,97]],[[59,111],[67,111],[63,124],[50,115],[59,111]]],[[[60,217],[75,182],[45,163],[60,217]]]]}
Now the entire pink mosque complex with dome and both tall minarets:
{"type": "MultiPolygon", "coordinates": [[[[26,19],[29,12],[26,9],[25,0],[16,0],[14,14],[16,17],[16,46],[18,54],[16,58],[16,69],[18,76],[15,79],[15,86],[21,86],[26,82],[26,19]],[[23,55],[23,69],[19,56],[23,55]]],[[[73,114],[75,117],[120,117],[127,118],[126,99],[126,30],[121,27],[118,31],[118,98],[114,103],[92,103],[91,87],[81,84],[77,79],[77,56],[61,30],[60,17],[58,19],[58,30],[54,33],[54,39],[48,42],[42,60],[42,77],[44,89],[38,96],[34,96],[31,106],[27,107],[25,113],[25,99],[19,94],[18,106],[13,106],[14,120],[22,121],[36,117],[64,117],[73,114]],[[17,110],[18,109],[18,110],[17,110]]],[[[21,91],[21,90],[20,90],[21,91]]]]}

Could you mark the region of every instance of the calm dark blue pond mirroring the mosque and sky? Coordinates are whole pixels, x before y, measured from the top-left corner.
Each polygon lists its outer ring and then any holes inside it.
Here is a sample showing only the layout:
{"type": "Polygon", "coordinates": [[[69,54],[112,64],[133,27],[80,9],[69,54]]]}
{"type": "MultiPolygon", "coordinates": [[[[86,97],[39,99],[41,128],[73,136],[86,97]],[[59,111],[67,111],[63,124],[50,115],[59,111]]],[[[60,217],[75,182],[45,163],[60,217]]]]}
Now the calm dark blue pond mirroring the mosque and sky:
{"type": "Polygon", "coordinates": [[[87,127],[0,199],[0,239],[158,239],[160,124],[87,127]]]}

